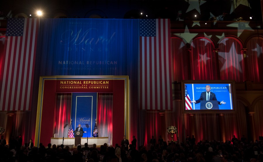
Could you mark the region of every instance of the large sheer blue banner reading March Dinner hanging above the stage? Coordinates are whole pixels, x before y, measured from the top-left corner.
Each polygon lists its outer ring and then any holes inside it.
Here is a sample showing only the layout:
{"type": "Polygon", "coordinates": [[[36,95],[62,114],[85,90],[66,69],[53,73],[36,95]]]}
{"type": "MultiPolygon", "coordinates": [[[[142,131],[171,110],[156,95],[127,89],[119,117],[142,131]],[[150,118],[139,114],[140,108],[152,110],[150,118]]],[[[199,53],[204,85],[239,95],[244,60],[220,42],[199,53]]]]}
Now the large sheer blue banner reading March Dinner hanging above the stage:
{"type": "Polygon", "coordinates": [[[138,68],[139,20],[41,19],[40,75],[129,75],[138,68]]]}

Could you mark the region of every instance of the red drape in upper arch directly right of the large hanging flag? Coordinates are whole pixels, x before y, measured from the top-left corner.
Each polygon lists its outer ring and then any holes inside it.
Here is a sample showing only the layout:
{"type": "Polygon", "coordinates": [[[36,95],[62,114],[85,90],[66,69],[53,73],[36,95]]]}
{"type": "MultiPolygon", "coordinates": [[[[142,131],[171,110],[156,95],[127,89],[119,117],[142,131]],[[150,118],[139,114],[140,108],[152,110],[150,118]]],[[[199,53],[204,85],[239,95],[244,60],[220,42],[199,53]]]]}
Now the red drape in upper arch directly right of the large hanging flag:
{"type": "Polygon", "coordinates": [[[189,56],[186,52],[186,45],[184,42],[177,37],[172,37],[171,39],[171,46],[172,46],[172,60],[173,60],[173,67],[174,70],[174,81],[181,81],[181,80],[188,80],[189,75],[189,56]],[[182,64],[184,63],[184,64],[182,64]]]}

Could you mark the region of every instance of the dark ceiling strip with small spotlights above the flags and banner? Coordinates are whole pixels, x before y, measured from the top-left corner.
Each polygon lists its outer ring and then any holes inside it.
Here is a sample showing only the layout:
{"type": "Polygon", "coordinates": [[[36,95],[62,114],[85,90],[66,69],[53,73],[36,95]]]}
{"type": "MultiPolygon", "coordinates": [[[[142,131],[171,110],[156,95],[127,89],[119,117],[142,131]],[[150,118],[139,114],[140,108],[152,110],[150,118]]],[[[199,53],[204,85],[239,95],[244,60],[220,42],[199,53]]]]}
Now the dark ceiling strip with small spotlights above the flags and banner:
{"type": "Polygon", "coordinates": [[[262,20],[260,0],[8,0],[0,2],[1,17],[25,17],[36,10],[46,18],[170,18],[176,20],[233,21],[238,17],[249,20],[254,15],[262,20]],[[237,2],[238,5],[235,5],[237,2]],[[246,1],[245,1],[246,2],[246,1]],[[141,12],[143,14],[141,15],[141,12]],[[21,14],[23,13],[23,14],[21,14]],[[147,17],[146,17],[147,15],[147,17]],[[194,17],[197,15],[197,17],[194,17]]]}

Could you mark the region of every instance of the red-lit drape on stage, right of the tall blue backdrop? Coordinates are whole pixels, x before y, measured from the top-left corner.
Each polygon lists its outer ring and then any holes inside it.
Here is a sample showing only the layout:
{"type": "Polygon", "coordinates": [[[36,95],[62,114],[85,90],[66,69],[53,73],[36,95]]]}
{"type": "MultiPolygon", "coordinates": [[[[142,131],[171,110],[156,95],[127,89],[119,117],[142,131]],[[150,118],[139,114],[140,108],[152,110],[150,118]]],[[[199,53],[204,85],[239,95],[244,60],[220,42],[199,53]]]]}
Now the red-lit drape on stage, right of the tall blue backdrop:
{"type": "MultiPolygon", "coordinates": [[[[98,111],[97,111],[97,128],[99,137],[108,137],[110,144],[112,143],[112,109],[113,109],[113,95],[112,94],[98,94],[98,111]]],[[[115,115],[118,117],[118,114],[115,115]]],[[[93,128],[92,128],[93,129],[93,128]]],[[[115,144],[113,144],[115,145],[115,144]]]]}

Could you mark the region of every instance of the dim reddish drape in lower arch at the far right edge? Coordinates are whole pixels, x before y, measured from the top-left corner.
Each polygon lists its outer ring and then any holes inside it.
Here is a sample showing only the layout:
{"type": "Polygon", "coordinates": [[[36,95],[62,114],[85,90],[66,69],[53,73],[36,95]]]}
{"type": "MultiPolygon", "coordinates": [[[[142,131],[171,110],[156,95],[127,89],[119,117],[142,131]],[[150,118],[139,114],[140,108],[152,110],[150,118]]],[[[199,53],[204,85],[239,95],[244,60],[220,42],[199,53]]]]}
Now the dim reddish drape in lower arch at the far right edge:
{"type": "Polygon", "coordinates": [[[258,101],[255,105],[255,115],[254,115],[254,124],[255,124],[255,137],[256,139],[259,138],[259,136],[263,136],[263,100],[258,101]]]}

